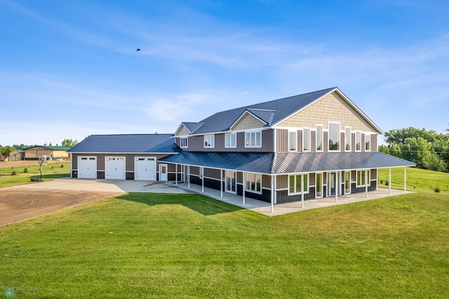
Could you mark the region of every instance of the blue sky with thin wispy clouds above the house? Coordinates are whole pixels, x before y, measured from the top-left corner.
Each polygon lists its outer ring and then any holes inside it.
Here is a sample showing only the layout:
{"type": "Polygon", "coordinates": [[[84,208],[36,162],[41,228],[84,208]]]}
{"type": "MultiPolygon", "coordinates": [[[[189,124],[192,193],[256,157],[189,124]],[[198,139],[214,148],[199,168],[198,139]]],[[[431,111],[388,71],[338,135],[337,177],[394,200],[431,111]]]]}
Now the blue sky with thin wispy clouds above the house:
{"type": "Polygon", "coordinates": [[[443,133],[448,11],[407,0],[0,0],[0,145],[173,133],[332,86],[383,131],[443,133]]]}

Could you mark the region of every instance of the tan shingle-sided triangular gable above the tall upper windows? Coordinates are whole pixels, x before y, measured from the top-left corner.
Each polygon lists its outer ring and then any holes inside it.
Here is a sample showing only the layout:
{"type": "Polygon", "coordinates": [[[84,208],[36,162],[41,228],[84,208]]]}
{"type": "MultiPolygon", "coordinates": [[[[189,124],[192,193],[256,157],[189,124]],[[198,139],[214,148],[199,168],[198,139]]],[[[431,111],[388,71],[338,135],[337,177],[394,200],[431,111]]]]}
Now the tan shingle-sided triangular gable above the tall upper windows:
{"type": "Polygon", "coordinates": [[[327,128],[328,121],[336,121],[342,125],[342,129],[344,126],[351,126],[354,131],[382,133],[380,128],[377,128],[363,112],[353,106],[355,105],[336,90],[304,107],[276,126],[314,128],[316,124],[323,124],[324,128],[327,128]]]}

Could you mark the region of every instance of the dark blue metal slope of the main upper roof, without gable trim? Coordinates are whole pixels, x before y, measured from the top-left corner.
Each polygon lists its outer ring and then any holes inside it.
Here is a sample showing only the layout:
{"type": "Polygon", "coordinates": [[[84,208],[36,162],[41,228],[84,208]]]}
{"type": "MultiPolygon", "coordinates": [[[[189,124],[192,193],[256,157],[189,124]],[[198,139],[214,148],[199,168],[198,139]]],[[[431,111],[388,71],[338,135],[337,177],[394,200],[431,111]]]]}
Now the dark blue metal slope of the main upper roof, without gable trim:
{"type": "Polygon", "coordinates": [[[275,124],[302,107],[314,102],[314,100],[326,95],[326,93],[333,91],[333,89],[335,89],[335,87],[323,89],[322,91],[295,95],[289,98],[281,98],[279,100],[261,102],[255,105],[217,112],[210,117],[203,119],[201,122],[204,124],[196,129],[195,134],[228,131],[229,127],[232,126],[237,119],[239,119],[241,114],[245,112],[246,109],[273,110],[274,117],[272,118],[271,124],[275,124]]]}

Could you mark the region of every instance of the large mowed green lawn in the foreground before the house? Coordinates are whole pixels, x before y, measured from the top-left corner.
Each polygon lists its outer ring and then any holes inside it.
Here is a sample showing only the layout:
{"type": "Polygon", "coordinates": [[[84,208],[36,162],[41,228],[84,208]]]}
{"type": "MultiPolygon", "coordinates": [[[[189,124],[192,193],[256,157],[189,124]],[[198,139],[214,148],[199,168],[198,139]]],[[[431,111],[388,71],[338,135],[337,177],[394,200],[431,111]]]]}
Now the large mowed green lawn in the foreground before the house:
{"type": "Polygon", "coordinates": [[[449,196],[274,218],[197,194],[126,194],[0,227],[17,298],[448,298],[449,196]]]}

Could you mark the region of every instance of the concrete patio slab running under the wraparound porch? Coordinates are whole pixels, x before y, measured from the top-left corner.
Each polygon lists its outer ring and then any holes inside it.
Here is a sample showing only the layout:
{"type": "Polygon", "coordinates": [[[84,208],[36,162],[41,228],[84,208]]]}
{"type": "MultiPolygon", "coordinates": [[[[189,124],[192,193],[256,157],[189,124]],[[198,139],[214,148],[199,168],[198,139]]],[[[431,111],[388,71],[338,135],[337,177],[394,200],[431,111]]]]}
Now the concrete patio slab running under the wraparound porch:
{"type": "Polygon", "coordinates": [[[262,213],[267,216],[283,215],[288,213],[307,211],[311,210],[312,208],[325,208],[327,206],[351,204],[358,201],[367,201],[372,199],[380,199],[384,197],[392,197],[395,195],[413,193],[410,191],[392,189],[391,194],[389,194],[389,190],[387,188],[379,188],[377,191],[368,192],[368,198],[365,197],[365,193],[356,193],[339,196],[338,202],[335,202],[335,197],[326,197],[323,199],[310,199],[304,201],[304,208],[301,207],[301,201],[291,202],[287,204],[275,204],[274,211],[272,212],[271,204],[264,201],[258,201],[256,199],[250,199],[246,197],[245,204],[243,204],[243,198],[241,196],[223,191],[222,192],[223,195],[221,197],[220,190],[204,187],[204,192],[201,192],[201,186],[190,184],[189,188],[188,184],[185,182],[178,182],[177,185],[175,185],[175,182],[166,182],[166,185],[170,185],[171,187],[175,186],[182,190],[198,193],[205,197],[210,197],[212,199],[224,201],[227,202],[228,204],[233,204],[234,206],[248,208],[248,210],[255,211],[257,213],[262,213]]]}

